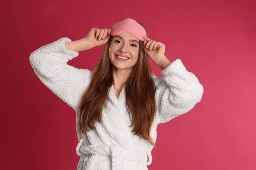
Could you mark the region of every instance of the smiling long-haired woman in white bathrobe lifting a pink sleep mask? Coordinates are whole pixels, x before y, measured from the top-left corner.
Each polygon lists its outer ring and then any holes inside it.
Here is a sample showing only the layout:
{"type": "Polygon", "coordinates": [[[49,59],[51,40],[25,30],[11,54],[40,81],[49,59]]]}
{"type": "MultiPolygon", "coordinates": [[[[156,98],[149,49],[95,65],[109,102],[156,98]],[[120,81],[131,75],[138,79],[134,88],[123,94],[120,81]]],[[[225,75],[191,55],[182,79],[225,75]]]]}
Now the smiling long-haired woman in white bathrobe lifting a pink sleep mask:
{"type": "Polygon", "coordinates": [[[87,37],[63,37],[30,55],[35,74],[76,111],[77,170],[147,170],[157,125],[188,112],[204,91],[180,59],[170,62],[165,45],[126,18],[112,29],[92,28],[87,37]],[[94,71],[67,62],[105,44],[94,71]],[[148,57],[162,69],[157,78],[148,57]]]}

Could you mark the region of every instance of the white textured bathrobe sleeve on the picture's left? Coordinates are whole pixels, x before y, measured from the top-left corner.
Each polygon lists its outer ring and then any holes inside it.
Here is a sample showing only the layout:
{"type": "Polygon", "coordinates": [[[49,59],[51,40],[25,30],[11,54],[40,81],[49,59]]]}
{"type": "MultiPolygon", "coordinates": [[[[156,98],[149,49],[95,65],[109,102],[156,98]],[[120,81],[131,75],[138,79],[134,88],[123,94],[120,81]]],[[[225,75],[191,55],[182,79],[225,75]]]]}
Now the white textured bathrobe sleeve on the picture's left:
{"type": "Polygon", "coordinates": [[[29,56],[35,74],[54,94],[66,102],[74,110],[79,104],[79,96],[89,85],[92,72],[88,69],[78,69],[67,62],[79,55],[68,50],[67,37],[38,48],[29,56]]]}

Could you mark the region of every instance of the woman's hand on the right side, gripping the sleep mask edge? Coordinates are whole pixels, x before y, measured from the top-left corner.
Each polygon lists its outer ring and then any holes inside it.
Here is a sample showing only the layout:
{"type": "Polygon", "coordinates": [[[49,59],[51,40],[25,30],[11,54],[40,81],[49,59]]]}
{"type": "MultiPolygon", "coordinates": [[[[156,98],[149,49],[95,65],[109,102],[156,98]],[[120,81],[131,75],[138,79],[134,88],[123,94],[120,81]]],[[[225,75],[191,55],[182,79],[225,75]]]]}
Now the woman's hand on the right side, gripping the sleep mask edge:
{"type": "Polygon", "coordinates": [[[157,64],[165,58],[165,45],[163,43],[150,40],[148,37],[144,37],[144,40],[144,51],[154,63],[157,64]]]}

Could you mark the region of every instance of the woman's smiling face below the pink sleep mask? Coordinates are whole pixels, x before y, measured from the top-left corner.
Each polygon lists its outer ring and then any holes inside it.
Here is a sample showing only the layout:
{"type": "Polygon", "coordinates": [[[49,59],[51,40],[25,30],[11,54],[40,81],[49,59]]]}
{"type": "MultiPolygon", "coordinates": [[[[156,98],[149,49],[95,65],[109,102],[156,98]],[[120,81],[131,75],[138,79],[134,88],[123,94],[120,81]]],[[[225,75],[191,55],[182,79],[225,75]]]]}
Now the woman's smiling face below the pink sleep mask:
{"type": "Polygon", "coordinates": [[[129,32],[113,36],[108,54],[114,67],[132,68],[138,60],[139,40],[129,32]]]}

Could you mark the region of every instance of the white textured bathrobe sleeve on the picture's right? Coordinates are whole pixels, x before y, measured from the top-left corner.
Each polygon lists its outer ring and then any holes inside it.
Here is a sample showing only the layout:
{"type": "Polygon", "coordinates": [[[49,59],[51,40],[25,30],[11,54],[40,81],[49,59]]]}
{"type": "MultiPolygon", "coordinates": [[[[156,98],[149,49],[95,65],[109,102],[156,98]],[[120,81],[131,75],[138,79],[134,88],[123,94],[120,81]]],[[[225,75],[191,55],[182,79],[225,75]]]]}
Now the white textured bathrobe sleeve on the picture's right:
{"type": "Polygon", "coordinates": [[[204,92],[197,77],[189,71],[180,59],[176,59],[161,71],[163,78],[153,74],[156,85],[157,123],[165,123],[190,111],[200,102],[204,92]]]}

